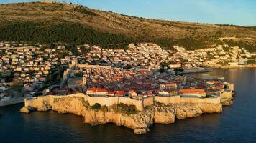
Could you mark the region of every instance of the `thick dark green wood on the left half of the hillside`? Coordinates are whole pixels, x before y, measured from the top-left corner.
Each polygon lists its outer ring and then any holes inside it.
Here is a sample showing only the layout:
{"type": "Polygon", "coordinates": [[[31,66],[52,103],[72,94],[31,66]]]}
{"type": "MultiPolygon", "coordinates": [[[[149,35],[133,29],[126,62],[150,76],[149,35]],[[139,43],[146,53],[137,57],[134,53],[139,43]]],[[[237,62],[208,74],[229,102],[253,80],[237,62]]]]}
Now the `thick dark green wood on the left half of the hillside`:
{"type": "Polygon", "coordinates": [[[91,44],[104,48],[123,48],[134,41],[132,37],[122,34],[109,34],[96,31],[81,24],[60,23],[43,24],[17,22],[0,26],[0,41],[26,41],[51,45],[54,43],[73,45],[91,44]]]}

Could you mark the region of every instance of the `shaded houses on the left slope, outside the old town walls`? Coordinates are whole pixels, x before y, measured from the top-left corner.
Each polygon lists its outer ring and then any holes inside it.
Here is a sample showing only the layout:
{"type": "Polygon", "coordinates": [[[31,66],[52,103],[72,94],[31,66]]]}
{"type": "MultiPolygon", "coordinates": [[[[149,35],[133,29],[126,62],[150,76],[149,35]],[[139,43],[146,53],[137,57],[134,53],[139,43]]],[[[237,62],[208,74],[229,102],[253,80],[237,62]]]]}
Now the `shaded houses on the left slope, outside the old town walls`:
{"type": "Polygon", "coordinates": [[[8,93],[10,87],[19,82],[23,84],[24,94],[29,95],[43,86],[52,69],[69,64],[72,59],[70,53],[63,56],[65,46],[41,48],[42,45],[0,42],[0,93],[8,93]]]}

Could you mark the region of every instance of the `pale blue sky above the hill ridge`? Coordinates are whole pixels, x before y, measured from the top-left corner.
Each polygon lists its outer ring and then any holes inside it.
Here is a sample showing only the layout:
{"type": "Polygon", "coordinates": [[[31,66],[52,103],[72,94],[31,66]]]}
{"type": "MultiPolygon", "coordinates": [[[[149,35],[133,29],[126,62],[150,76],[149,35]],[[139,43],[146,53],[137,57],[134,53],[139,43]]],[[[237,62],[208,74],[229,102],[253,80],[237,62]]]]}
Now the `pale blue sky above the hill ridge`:
{"type": "MultiPolygon", "coordinates": [[[[0,4],[30,0],[0,0],[0,4]]],[[[35,0],[34,0],[35,1],[35,0]]],[[[60,1],[60,0],[57,0],[60,1]]],[[[149,19],[256,26],[256,0],[62,0],[149,19]]]]}

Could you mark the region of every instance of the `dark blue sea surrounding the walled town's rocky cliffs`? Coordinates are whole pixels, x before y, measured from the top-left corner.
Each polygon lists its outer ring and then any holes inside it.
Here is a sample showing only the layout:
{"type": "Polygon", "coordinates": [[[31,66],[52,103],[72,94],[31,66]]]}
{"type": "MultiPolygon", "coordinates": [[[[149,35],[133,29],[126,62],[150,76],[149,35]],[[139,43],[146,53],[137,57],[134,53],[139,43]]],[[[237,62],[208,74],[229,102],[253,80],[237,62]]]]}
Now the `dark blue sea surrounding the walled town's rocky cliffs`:
{"type": "Polygon", "coordinates": [[[73,114],[22,114],[19,109],[23,104],[16,104],[0,107],[0,142],[256,142],[256,69],[213,69],[208,74],[234,83],[234,104],[224,107],[221,114],[154,124],[149,133],[136,135],[116,124],[84,124],[83,117],[73,114]]]}

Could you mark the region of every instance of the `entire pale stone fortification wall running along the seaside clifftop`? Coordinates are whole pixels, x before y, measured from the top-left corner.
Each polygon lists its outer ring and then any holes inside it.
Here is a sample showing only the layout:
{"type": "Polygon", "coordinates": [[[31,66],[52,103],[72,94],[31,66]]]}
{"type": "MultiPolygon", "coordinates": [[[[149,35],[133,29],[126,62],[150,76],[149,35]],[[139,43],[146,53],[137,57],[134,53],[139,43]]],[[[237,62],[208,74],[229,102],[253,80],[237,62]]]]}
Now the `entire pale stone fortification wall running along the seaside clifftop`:
{"type": "MultiPolygon", "coordinates": [[[[25,99],[25,106],[37,107],[39,104],[53,104],[54,99],[63,98],[67,96],[55,96],[49,95],[45,97],[31,97],[25,99]],[[34,106],[35,105],[35,106],[34,106]]],[[[68,97],[83,97],[91,106],[99,103],[101,106],[110,107],[113,104],[128,104],[134,105],[137,110],[142,111],[145,107],[154,104],[154,102],[160,102],[163,104],[179,104],[179,103],[209,103],[209,104],[220,104],[220,97],[216,98],[189,98],[189,97],[147,97],[143,99],[132,99],[130,97],[90,97],[86,94],[70,94],[68,97]]]]}

